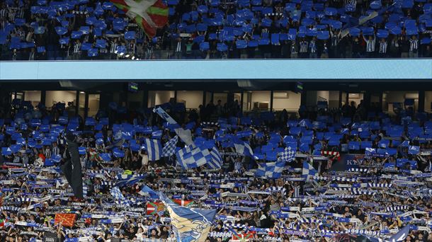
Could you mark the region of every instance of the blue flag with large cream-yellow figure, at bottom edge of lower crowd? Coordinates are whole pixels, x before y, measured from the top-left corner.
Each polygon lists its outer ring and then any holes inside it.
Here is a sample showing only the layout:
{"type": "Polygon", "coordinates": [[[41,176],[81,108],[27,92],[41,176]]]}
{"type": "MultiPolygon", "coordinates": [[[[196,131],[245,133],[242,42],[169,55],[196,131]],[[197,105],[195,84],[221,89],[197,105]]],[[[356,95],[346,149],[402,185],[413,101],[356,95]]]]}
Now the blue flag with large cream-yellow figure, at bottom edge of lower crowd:
{"type": "Polygon", "coordinates": [[[207,239],[213,219],[215,219],[216,209],[181,207],[162,193],[159,194],[159,197],[169,212],[173,233],[178,242],[207,239]]]}

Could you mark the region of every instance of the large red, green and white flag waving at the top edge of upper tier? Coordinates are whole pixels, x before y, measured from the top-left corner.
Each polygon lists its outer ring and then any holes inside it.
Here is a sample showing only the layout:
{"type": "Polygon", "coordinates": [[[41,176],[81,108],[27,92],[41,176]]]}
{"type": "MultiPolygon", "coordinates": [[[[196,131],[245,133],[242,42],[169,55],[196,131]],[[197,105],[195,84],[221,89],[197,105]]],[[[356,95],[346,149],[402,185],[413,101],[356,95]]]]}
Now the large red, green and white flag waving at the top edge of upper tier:
{"type": "Polygon", "coordinates": [[[168,22],[168,6],[161,0],[110,0],[135,20],[144,33],[153,38],[157,28],[163,28],[168,22]]]}

